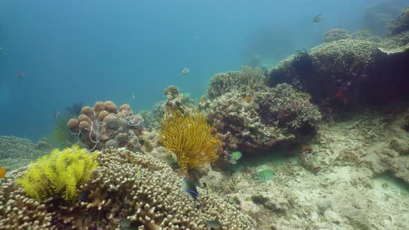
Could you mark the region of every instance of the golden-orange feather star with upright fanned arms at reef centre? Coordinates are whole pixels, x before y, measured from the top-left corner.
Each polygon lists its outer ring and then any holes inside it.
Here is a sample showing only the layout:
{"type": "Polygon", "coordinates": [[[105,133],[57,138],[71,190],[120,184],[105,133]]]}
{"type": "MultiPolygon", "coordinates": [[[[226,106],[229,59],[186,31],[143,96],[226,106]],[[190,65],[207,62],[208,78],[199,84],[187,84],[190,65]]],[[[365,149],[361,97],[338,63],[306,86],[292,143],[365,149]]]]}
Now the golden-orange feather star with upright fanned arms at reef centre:
{"type": "Polygon", "coordinates": [[[172,110],[160,122],[159,141],[177,154],[182,170],[197,169],[218,159],[222,143],[211,134],[213,127],[203,114],[184,116],[179,110],[172,110]]]}

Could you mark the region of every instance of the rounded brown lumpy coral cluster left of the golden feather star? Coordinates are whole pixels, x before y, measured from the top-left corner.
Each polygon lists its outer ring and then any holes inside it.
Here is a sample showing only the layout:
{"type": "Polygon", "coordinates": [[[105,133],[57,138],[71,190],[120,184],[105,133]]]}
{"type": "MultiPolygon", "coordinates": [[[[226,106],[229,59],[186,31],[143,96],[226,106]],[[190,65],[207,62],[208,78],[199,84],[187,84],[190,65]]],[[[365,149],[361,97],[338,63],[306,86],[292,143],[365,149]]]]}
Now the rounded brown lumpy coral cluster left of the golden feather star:
{"type": "Polygon", "coordinates": [[[133,114],[128,104],[118,109],[112,101],[98,101],[94,107],[85,106],[78,118],[71,118],[67,127],[89,146],[91,150],[121,148],[139,151],[138,136],[143,132],[144,119],[133,114]]]}

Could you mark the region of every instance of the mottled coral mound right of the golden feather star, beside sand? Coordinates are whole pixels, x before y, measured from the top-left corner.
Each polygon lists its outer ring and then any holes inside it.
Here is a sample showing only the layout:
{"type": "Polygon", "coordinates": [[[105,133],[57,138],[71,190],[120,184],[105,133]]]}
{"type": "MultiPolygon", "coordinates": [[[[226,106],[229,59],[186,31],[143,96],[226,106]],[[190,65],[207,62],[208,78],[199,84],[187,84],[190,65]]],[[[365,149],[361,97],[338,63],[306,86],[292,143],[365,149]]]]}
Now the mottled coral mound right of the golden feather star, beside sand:
{"type": "Polygon", "coordinates": [[[227,150],[259,152],[313,130],[321,115],[309,99],[287,84],[254,91],[251,100],[231,91],[211,101],[207,118],[227,150]]]}

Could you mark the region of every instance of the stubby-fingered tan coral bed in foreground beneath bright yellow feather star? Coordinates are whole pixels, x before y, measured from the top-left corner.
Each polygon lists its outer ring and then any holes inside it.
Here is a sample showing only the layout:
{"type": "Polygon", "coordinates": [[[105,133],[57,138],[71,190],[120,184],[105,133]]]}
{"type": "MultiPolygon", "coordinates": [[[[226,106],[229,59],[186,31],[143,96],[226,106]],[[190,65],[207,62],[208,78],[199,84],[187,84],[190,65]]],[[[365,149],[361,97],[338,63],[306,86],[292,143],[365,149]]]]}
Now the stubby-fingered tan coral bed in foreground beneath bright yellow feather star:
{"type": "Polygon", "coordinates": [[[199,192],[195,209],[181,188],[181,178],[160,159],[128,150],[98,154],[99,167],[80,189],[74,204],[26,197],[15,178],[26,168],[0,179],[0,229],[119,229],[123,219],[137,229],[255,229],[247,215],[215,195],[199,192]]]}

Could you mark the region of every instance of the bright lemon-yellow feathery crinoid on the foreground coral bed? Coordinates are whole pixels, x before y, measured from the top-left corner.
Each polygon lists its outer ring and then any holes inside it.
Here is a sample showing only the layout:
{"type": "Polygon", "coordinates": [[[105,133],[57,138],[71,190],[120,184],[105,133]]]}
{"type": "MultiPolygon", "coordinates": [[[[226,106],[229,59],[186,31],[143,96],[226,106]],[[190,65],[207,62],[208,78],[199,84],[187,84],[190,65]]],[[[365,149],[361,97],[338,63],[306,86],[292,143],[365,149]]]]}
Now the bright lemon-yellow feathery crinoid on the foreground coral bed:
{"type": "Polygon", "coordinates": [[[31,163],[26,174],[17,179],[29,197],[42,202],[51,196],[73,202],[77,188],[87,182],[90,170],[96,168],[98,154],[88,154],[78,145],[63,151],[55,149],[49,155],[31,163]]]}

